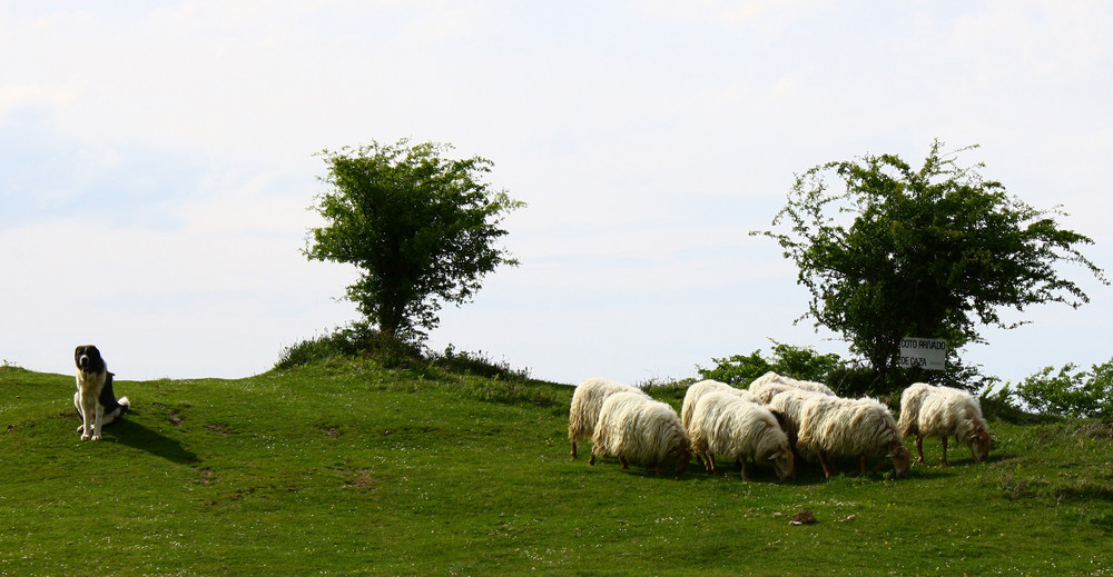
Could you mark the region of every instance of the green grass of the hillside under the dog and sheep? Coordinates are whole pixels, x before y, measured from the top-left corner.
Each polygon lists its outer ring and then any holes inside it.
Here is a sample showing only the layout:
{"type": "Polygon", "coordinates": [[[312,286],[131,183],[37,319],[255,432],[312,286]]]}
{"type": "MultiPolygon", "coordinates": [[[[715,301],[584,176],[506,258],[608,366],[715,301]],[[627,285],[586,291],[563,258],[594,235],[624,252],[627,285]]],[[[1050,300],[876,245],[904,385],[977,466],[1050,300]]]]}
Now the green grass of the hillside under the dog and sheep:
{"type": "Polygon", "coordinates": [[[988,462],[957,447],[897,481],[743,483],[572,461],[572,389],[535,381],[342,358],[118,380],[134,411],[100,442],[72,390],[0,368],[0,575],[1113,574],[1095,421],[992,422],[988,462]]]}

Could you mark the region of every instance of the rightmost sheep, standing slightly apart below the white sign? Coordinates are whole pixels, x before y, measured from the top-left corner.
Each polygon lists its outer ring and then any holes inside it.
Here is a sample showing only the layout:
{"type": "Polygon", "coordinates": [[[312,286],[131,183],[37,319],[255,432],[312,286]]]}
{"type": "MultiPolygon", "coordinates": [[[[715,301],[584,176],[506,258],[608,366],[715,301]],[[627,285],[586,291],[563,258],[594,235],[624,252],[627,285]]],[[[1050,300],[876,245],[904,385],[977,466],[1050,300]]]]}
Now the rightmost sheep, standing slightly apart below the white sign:
{"type": "Polygon", "coordinates": [[[918,461],[924,462],[924,437],[943,439],[943,466],[947,462],[947,439],[954,436],[971,448],[974,462],[989,456],[992,438],[982,416],[982,406],[973,395],[952,387],[926,382],[912,385],[900,394],[900,421],[905,437],[916,436],[918,461]]]}

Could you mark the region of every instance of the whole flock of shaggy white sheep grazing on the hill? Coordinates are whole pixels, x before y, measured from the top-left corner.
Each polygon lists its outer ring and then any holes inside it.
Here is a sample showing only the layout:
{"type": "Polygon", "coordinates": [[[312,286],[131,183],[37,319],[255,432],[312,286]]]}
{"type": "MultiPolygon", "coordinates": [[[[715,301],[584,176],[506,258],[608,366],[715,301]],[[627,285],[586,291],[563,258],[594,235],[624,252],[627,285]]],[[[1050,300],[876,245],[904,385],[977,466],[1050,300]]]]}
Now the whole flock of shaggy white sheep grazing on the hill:
{"type": "Polygon", "coordinates": [[[780,480],[796,477],[800,466],[818,465],[829,479],[838,459],[857,460],[863,476],[868,465],[881,470],[893,464],[894,477],[907,475],[912,451],[904,439],[915,436],[918,462],[924,437],[955,437],[971,448],[974,462],[985,460],[991,436],[977,399],[971,394],[917,382],[900,397],[900,419],[871,398],[841,398],[826,385],[767,372],[740,389],[715,380],[688,387],[681,411],[652,399],[637,387],[608,379],[581,382],[572,395],[568,436],[572,458],[577,444],[591,440],[591,458],[618,458],[682,474],[695,455],[703,468],[719,474],[718,462],[735,459],[749,480],[747,462],[768,467],[780,480]],[[719,461],[717,461],[719,459],[719,461]]]}

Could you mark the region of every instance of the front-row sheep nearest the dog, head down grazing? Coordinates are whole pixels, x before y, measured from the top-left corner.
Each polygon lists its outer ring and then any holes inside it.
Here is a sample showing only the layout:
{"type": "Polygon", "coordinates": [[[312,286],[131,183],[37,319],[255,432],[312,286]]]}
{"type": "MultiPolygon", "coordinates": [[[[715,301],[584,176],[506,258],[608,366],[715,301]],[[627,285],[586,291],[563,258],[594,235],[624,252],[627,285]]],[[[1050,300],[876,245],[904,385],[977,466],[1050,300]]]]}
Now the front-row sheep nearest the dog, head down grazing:
{"type": "Polygon", "coordinates": [[[661,461],[676,459],[680,475],[691,460],[691,442],[677,411],[640,391],[607,397],[591,442],[588,465],[595,464],[597,455],[614,455],[623,469],[634,461],[653,467],[661,475],[661,461]]]}

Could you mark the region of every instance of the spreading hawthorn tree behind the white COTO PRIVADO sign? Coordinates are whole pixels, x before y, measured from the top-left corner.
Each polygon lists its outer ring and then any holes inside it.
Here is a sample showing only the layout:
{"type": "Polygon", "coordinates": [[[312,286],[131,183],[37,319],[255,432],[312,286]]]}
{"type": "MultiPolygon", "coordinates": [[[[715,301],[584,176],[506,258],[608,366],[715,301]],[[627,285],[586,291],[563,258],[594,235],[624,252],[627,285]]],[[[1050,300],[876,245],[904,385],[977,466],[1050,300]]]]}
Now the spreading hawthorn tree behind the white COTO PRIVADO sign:
{"type": "Polygon", "coordinates": [[[816,326],[843,335],[885,380],[907,336],[944,338],[954,351],[984,342],[983,325],[1014,328],[1002,309],[1089,297],[1060,276],[1081,265],[1103,283],[1103,271],[1077,246],[1093,241],[1062,229],[1057,208],[1037,210],[985,180],[976,165],[958,166],[936,140],[918,170],[897,156],[828,162],[798,176],[774,230],[811,292],[816,326]],[[829,190],[827,177],[845,183],[829,190]]]}

